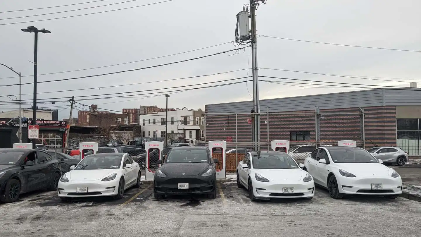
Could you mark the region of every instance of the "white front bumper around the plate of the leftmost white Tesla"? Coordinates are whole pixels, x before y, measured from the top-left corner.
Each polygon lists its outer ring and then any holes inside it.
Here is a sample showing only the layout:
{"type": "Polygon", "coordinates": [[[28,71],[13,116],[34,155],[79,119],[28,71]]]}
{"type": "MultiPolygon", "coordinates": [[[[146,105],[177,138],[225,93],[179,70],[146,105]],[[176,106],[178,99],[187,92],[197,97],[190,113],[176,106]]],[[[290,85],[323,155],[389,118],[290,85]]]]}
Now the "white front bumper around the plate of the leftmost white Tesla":
{"type": "Polygon", "coordinates": [[[115,196],[118,193],[119,179],[111,181],[69,181],[63,183],[59,181],[58,196],[59,197],[101,197],[115,196]],[[88,187],[87,193],[78,193],[77,188],[88,187]]]}

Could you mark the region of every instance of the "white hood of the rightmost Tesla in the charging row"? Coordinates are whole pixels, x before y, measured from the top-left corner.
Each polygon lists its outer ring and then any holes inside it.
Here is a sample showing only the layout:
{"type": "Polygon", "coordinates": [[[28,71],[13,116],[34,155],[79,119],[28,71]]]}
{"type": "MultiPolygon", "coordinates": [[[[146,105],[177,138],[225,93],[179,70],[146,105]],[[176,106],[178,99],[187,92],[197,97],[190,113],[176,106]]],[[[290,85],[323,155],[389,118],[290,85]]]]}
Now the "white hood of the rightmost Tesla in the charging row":
{"type": "Polygon", "coordinates": [[[350,172],[355,176],[373,176],[373,174],[376,176],[392,175],[389,168],[380,163],[342,163],[338,164],[338,168],[350,172]]]}

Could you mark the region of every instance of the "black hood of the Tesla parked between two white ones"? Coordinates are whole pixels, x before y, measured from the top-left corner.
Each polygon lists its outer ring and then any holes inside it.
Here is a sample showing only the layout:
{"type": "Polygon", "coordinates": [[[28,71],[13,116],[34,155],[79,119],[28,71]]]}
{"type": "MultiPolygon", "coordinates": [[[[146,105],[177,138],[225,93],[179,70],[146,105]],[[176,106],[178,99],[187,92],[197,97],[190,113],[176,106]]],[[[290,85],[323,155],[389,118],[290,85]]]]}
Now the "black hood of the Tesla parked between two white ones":
{"type": "Polygon", "coordinates": [[[163,171],[169,176],[200,175],[209,163],[165,163],[163,171]]]}

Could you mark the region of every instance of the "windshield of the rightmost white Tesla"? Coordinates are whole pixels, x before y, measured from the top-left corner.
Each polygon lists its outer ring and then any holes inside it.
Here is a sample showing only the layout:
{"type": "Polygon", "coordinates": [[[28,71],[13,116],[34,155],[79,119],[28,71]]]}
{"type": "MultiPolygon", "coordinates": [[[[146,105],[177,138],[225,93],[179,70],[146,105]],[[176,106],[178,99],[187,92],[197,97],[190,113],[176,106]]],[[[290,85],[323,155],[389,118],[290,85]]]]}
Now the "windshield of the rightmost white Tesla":
{"type": "Polygon", "coordinates": [[[335,163],[378,163],[368,151],[360,148],[330,150],[335,163]]]}

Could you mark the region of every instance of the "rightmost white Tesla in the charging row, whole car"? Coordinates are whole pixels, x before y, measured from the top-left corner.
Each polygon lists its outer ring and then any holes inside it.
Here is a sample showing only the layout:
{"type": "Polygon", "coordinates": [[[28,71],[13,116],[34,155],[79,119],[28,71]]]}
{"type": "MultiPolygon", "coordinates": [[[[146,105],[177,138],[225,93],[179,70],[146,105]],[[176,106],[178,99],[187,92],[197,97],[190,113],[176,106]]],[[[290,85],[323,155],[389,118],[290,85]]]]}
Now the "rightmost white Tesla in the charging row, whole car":
{"type": "Polygon", "coordinates": [[[304,159],[314,183],[328,189],[330,197],[344,194],[383,195],[395,199],[402,194],[402,179],[362,148],[332,146],[315,149],[304,159]]]}

